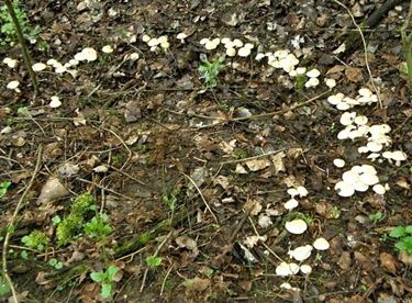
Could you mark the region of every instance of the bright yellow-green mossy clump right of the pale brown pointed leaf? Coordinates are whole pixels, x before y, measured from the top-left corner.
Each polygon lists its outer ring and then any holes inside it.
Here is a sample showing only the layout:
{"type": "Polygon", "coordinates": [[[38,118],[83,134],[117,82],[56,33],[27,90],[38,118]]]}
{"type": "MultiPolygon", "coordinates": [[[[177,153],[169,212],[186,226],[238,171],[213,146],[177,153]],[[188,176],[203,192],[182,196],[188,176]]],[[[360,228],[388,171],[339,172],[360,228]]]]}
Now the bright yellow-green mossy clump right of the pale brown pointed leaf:
{"type": "MultiPolygon", "coordinates": [[[[70,205],[70,213],[57,223],[56,238],[59,246],[68,244],[81,231],[85,216],[89,211],[96,210],[96,202],[91,194],[83,193],[78,195],[70,205]]],[[[57,220],[55,220],[57,222],[57,220]]]]}

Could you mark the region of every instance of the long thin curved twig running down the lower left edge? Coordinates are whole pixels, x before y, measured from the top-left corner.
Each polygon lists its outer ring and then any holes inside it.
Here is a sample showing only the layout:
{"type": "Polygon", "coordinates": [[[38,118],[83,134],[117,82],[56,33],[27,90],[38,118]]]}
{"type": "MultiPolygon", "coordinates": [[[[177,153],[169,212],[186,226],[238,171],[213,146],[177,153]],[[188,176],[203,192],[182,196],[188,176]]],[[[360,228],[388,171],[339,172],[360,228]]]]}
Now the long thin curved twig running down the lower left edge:
{"type": "Polygon", "coordinates": [[[25,197],[27,195],[30,189],[32,188],[32,186],[34,183],[34,179],[37,177],[37,173],[40,171],[41,164],[42,164],[42,152],[43,152],[43,146],[40,145],[38,148],[37,148],[37,162],[36,162],[36,166],[34,168],[33,176],[30,179],[30,182],[29,182],[27,187],[25,188],[23,194],[20,197],[18,205],[14,209],[13,216],[11,217],[11,221],[8,224],[7,233],[5,233],[5,236],[4,236],[3,254],[2,254],[2,271],[3,271],[4,279],[8,281],[9,285],[10,285],[10,290],[12,292],[14,303],[19,303],[19,300],[18,300],[18,294],[15,292],[15,289],[13,287],[13,282],[11,280],[10,276],[9,276],[9,272],[8,272],[9,242],[10,242],[11,235],[13,234],[13,232],[16,227],[16,226],[14,226],[14,224],[16,224],[15,221],[18,218],[20,209],[22,207],[23,201],[24,201],[25,197]]]}

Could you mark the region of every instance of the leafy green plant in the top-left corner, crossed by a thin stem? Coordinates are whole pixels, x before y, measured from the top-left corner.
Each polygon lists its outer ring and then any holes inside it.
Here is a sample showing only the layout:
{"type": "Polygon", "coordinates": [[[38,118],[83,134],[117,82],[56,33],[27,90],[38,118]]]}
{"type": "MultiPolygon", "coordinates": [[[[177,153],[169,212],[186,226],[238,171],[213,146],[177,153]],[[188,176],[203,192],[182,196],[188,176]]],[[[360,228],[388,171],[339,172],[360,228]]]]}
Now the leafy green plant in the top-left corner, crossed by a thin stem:
{"type": "MultiPolygon", "coordinates": [[[[32,27],[27,20],[26,12],[22,9],[19,0],[12,2],[12,8],[14,10],[16,20],[20,23],[20,27],[24,37],[29,38],[31,42],[35,42],[40,33],[40,26],[32,27]]],[[[14,26],[13,20],[9,13],[7,5],[0,7],[0,45],[13,45],[15,43],[16,29],[14,26]]]]}

